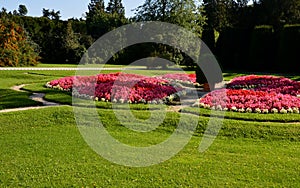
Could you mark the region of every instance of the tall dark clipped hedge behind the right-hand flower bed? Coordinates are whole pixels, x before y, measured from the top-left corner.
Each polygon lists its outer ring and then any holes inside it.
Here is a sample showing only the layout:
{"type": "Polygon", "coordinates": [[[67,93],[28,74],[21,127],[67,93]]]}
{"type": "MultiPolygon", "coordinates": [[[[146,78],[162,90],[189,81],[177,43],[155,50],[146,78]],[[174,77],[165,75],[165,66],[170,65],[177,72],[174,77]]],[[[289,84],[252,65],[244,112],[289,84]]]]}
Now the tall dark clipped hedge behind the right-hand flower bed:
{"type": "Polygon", "coordinates": [[[216,56],[225,70],[299,73],[300,25],[252,30],[228,28],[220,33],[216,56]]]}

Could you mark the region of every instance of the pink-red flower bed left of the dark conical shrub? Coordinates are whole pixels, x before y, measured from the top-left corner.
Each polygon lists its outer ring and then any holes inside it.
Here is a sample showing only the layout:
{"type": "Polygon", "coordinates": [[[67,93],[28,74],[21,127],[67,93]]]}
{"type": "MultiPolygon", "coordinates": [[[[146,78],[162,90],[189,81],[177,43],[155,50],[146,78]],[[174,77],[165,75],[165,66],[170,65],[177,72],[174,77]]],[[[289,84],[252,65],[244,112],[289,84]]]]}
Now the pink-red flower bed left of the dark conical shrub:
{"type": "MultiPolygon", "coordinates": [[[[172,77],[177,78],[176,80],[184,78],[182,75],[172,77]]],[[[74,96],[80,98],[120,103],[170,102],[188,92],[180,86],[171,84],[164,76],[147,77],[124,73],[65,77],[53,80],[46,86],[72,91],[74,96]]]]}

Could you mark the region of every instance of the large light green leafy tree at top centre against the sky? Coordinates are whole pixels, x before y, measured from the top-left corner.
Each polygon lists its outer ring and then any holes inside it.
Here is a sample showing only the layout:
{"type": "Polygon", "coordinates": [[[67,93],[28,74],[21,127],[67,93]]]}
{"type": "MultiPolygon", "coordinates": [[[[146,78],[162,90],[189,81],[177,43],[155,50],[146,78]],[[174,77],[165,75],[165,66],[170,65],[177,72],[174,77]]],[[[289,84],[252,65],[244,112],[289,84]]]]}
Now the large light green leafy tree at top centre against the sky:
{"type": "MultiPolygon", "coordinates": [[[[203,9],[199,6],[199,2],[194,0],[146,0],[145,3],[139,6],[135,11],[135,21],[162,21],[178,26],[182,26],[194,34],[201,36],[205,17],[203,9]]],[[[158,36],[159,37],[159,36],[158,36]]],[[[174,38],[176,43],[190,45],[190,42],[181,41],[177,36],[168,36],[174,38]]],[[[148,45],[148,49],[155,49],[150,53],[150,56],[158,56],[166,58],[177,63],[187,66],[194,66],[194,62],[186,54],[166,45],[148,45]]],[[[149,51],[142,49],[142,51],[149,51]]],[[[198,53],[195,49],[195,53],[198,53]]]]}

